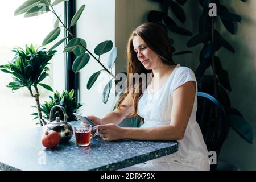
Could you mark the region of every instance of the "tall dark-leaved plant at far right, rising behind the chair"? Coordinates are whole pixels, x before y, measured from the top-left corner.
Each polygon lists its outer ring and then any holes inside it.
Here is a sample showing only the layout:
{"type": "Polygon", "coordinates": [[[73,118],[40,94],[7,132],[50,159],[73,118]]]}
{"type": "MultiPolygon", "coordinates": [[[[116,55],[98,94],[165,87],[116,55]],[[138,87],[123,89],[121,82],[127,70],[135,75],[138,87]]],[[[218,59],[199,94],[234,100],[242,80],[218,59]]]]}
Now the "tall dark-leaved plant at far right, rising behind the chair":
{"type": "MultiPolygon", "coordinates": [[[[245,2],[245,0],[241,0],[245,2]]],[[[224,47],[226,50],[235,53],[233,46],[226,40],[218,30],[216,30],[216,20],[219,18],[226,30],[234,35],[234,22],[241,22],[241,16],[230,13],[228,7],[221,5],[219,0],[200,0],[199,3],[203,7],[202,14],[199,19],[199,34],[191,38],[187,46],[193,47],[200,43],[204,46],[201,49],[199,67],[195,71],[198,81],[199,90],[207,92],[217,98],[224,106],[228,115],[230,126],[243,138],[246,142],[253,142],[253,129],[250,124],[243,119],[242,114],[237,109],[231,107],[228,92],[232,91],[228,71],[222,67],[220,57],[216,53],[224,47]],[[210,17],[209,3],[217,5],[217,16],[210,17]],[[212,68],[212,75],[205,75],[205,70],[212,68]]]]}

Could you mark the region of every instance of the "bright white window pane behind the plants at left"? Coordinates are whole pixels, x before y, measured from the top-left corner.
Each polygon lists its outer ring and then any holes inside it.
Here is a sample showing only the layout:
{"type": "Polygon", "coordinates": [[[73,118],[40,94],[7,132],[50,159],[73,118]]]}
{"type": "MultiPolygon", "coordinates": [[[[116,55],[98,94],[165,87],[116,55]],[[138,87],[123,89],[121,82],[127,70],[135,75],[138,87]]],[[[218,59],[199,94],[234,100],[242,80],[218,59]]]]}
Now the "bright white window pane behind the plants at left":
{"type": "MultiPolygon", "coordinates": [[[[1,28],[0,28],[0,65],[7,64],[14,57],[11,49],[14,47],[25,47],[25,44],[34,44],[41,46],[46,35],[53,30],[53,14],[46,13],[39,16],[24,18],[23,15],[14,16],[14,11],[23,3],[23,1],[9,0],[3,1],[0,6],[1,28]]],[[[63,5],[61,6],[63,7],[63,5]]],[[[62,13],[62,12],[61,12],[62,13]]],[[[49,48],[53,45],[49,44],[49,48]]],[[[61,48],[60,48],[61,49],[61,48]]],[[[50,76],[43,83],[52,86],[55,89],[64,89],[64,84],[60,84],[57,79],[64,80],[64,59],[59,55],[53,56],[49,65],[50,76]],[[63,69],[61,66],[63,66],[63,69]],[[53,74],[54,73],[54,74],[53,74]]],[[[0,132],[7,130],[20,130],[30,127],[37,127],[37,121],[33,120],[31,115],[37,110],[31,108],[35,106],[35,99],[30,96],[27,88],[20,88],[11,92],[6,85],[12,81],[11,75],[0,72],[0,132]]],[[[60,92],[62,90],[59,90],[60,92]]],[[[52,92],[39,86],[40,104],[48,101],[48,96],[52,92]]]]}

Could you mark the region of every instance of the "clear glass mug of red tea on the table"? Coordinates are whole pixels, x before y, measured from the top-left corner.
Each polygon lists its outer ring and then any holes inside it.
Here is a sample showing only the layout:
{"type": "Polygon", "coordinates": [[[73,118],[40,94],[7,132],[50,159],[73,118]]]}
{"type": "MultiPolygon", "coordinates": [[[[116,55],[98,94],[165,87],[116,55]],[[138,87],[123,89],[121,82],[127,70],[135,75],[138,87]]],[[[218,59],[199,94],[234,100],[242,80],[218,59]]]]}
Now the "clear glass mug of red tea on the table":
{"type": "Polygon", "coordinates": [[[92,125],[83,124],[80,126],[74,126],[76,144],[78,146],[89,146],[90,139],[98,134],[97,127],[92,127],[92,125]],[[92,135],[92,130],[95,130],[92,135]]]}

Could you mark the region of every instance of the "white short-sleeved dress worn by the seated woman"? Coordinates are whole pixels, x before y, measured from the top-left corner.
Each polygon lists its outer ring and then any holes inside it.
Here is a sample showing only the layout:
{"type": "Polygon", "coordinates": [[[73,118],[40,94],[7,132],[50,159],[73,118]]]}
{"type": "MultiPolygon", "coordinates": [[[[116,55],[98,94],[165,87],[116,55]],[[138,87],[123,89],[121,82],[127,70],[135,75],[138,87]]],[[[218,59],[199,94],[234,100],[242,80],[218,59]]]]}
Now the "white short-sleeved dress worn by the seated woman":
{"type": "MultiPolygon", "coordinates": [[[[148,91],[148,86],[138,102],[138,115],[144,118],[144,124],[141,127],[169,125],[171,122],[172,93],[188,81],[196,82],[193,71],[178,64],[156,94],[151,94],[148,91]]],[[[122,170],[209,170],[208,150],[200,127],[196,122],[196,110],[197,97],[195,97],[184,138],[178,141],[179,150],[177,152],[122,170]]]]}

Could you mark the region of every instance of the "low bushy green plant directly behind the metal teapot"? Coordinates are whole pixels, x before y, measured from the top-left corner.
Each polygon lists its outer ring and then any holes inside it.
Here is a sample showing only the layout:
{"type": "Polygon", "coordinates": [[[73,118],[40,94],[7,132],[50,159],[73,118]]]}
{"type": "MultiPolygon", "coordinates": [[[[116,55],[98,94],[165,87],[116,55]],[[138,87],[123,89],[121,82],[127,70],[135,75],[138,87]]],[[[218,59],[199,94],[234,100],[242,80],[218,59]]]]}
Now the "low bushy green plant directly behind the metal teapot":
{"type": "MultiPolygon", "coordinates": [[[[55,105],[60,105],[64,107],[67,113],[68,121],[77,121],[77,118],[75,117],[75,115],[73,115],[73,113],[79,111],[82,104],[77,102],[77,98],[74,97],[74,93],[75,91],[72,89],[70,92],[63,91],[61,94],[56,91],[53,94],[53,97],[49,96],[50,100],[48,102],[45,101],[44,104],[41,105],[43,118],[49,121],[49,114],[52,107],[55,105]]],[[[53,112],[53,119],[55,119],[56,117],[63,118],[63,112],[58,107],[53,112]]],[[[32,115],[36,115],[36,113],[33,113],[32,115]]],[[[38,115],[36,115],[34,119],[36,118],[38,118],[38,115]]]]}

